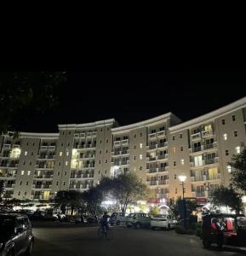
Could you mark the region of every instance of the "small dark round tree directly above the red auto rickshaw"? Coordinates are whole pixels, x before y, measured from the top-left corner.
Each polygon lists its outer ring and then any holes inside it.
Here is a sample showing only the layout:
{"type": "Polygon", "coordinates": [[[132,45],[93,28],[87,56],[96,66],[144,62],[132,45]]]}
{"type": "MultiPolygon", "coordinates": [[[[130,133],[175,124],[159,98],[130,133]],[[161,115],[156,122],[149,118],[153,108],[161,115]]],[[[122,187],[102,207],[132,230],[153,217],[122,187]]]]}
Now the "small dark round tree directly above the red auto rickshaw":
{"type": "Polygon", "coordinates": [[[229,188],[221,186],[219,189],[214,190],[212,196],[212,204],[215,206],[226,206],[229,207],[232,211],[236,211],[237,213],[242,210],[242,195],[237,193],[235,189],[232,188],[232,186],[229,188]]]}

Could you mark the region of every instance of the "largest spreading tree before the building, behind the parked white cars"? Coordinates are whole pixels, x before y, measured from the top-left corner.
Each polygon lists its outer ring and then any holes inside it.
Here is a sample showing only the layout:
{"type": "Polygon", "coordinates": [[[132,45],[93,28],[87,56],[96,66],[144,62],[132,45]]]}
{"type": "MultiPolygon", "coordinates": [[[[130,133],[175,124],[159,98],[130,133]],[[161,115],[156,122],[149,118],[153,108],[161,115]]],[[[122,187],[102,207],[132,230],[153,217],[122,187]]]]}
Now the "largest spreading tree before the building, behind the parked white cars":
{"type": "Polygon", "coordinates": [[[149,189],[134,173],[123,173],[118,177],[103,177],[100,182],[101,191],[107,192],[117,200],[122,212],[126,212],[129,204],[145,200],[149,189]]]}

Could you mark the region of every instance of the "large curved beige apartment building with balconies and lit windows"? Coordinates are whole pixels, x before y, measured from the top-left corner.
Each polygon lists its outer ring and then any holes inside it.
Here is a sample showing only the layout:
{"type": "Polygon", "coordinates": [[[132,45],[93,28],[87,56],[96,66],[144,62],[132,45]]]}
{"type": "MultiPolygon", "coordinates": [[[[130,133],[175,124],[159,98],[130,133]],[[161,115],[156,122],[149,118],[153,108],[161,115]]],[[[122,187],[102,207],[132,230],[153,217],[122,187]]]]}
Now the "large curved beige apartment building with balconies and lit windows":
{"type": "Polygon", "coordinates": [[[165,113],[125,126],[106,119],[58,128],[0,137],[3,198],[45,200],[134,172],[153,190],[152,202],[182,195],[182,174],[186,197],[205,203],[213,189],[230,183],[227,162],[246,145],[246,97],[186,122],[165,113]]]}

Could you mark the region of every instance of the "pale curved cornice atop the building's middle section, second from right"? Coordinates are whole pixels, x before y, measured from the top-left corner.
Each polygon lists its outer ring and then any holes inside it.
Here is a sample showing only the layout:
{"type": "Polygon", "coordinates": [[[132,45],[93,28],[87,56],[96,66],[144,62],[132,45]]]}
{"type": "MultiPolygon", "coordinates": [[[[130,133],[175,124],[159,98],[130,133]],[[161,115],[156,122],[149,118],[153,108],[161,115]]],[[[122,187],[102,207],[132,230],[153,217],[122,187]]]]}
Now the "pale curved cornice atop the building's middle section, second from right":
{"type": "Polygon", "coordinates": [[[147,125],[155,125],[155,123],[162,122],[163,119],[170,119],[171,116],[173,116],[175,119],[179,119],[177,116],[174,115],[174,113],[171,113],[171,112],[164,113],[164,114],[154,117],[152,119],[146,119],[146,120],[143,120],[138,123],[131,124],[131,125],[123,125],[123,126],[119,126],[116,128],[112,128],[112,133],[130,131],[130,130],[137,129],[137,128],[147,126],[147,125]]]}

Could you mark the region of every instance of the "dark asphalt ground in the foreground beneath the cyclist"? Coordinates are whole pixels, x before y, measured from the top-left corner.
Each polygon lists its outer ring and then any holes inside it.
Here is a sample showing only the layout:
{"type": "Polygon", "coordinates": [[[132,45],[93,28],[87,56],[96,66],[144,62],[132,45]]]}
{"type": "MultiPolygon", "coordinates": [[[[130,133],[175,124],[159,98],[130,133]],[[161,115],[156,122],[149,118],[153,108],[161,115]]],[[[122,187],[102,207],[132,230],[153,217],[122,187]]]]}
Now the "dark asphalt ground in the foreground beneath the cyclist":
{"type": "Polygon", "coordinates": [[[34,224],[33,255],[244,255],[214,247],[205,250],[197,236],[171,231],[112,227],[112,241],[100,240],[96,226],[82,224],[34,224]]]}

